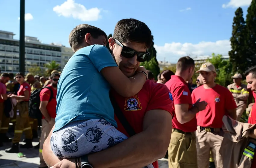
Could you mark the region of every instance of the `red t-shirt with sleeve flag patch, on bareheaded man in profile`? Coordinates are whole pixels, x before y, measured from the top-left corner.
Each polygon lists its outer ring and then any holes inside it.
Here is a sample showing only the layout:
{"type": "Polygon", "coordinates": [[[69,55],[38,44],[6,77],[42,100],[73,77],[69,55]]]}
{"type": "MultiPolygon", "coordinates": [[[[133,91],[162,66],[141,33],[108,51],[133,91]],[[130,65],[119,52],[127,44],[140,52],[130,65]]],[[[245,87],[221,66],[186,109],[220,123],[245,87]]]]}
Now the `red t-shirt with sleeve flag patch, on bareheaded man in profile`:
{"type": "MultiPolygon", "coordinates": [[[[191,93],[187,83],[182,77],[172,75],[171,79],[166,82],[165,85],[170,90],[173,97],[173,110],[175,110],[175,104],[189,104],[189,109],[192,107],[191,93]]],[[[194,132],[196,127],[197,122],[195,117],[185,124],[180,124],[176,118],[176,115],[174,115],[173,128],[182,130],[184,132],[194,132]]]]}

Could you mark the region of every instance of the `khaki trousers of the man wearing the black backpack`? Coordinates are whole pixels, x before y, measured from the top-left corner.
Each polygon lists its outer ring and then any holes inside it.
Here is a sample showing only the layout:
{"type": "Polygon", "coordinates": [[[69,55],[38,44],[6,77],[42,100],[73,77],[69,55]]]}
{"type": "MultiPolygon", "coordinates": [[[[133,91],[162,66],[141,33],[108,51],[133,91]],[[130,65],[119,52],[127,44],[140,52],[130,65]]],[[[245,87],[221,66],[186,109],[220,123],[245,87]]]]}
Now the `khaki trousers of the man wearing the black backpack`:
{"type": "Polygon", "coordinates": [[[39,146],[39,158],[40,158],[40,165],[39,167],[46,167],[42,151],[43,151],[43,145],[45,142],[45,139],[48,137],[50,131],[52,130],[52,127],[55,124],[55,119],[51,118],[50,122],[47,122],[45,119],[42,119],[42,133],[40,137],[40,146],[39,146]]]}

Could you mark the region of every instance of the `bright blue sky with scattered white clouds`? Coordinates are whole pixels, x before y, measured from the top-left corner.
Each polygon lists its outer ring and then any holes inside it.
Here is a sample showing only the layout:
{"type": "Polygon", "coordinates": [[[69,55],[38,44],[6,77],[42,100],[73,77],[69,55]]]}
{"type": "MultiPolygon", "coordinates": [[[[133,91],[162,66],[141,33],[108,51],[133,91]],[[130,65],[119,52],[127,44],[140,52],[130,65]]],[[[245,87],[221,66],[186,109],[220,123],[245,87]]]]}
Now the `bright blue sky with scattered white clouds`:
{"type": "MultiPolygon", "coordinates": [[[[212,52],[230,50],[234,12],[241,6],[246,16],[251,0],[26,0],[25,35],[43,43],[69,46],[70,31],[81,23],[113,33],[124,18],[145,22],[154,35],[158,60],[175,62],[212,52]],[[30,20],[29,20],[30,19],[30,20]]],[[[14,32],[19,39],[19,0],[0,0],[0,30],[14,32]]]]}

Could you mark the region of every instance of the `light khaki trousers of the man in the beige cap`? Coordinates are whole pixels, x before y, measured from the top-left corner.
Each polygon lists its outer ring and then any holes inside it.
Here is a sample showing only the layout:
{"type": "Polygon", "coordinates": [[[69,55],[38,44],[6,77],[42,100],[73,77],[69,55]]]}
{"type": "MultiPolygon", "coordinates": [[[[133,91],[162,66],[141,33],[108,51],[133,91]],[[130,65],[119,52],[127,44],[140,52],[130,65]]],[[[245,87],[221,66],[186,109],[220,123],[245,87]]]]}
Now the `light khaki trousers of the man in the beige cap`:
{"type": "Polygon", "coordinates": [[[210,151],[216,168],[223,168],[223,161],[220,155],[220,146],[223,140],[223,131],[212,133],[200,131],[198,126],[196,134],[196,149],[198,168],[208,168],[210,151]]]}

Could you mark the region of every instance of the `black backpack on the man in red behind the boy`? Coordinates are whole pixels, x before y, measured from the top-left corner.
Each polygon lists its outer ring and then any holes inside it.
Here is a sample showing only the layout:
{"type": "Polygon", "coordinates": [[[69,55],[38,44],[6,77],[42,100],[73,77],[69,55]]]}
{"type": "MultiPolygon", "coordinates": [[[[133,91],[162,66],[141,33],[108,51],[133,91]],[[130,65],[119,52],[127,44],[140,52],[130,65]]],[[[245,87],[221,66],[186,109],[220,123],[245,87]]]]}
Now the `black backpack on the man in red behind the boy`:
{"type": "MultiPolygon", "coordinates": [[[[50,102],[53,98],[52,88],[50,88],[50,87],[44,87],[44,88],[48,88],[51,91],[51,95],[50,95],[50,99],[49,99],[49,102],[50,102]]],[[[41,110],[39,109],[39,107],[40,107],[40,102],[41,102],[40,101],[40,92],[44,88],[36,89],[30,95],[28,109],[29,109],[29,116],[33,119],[39,119],[39,120],[42,119],[42,113],[41,113],[41,110]]]]}

